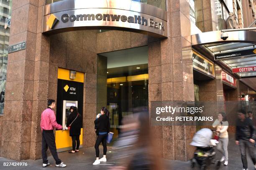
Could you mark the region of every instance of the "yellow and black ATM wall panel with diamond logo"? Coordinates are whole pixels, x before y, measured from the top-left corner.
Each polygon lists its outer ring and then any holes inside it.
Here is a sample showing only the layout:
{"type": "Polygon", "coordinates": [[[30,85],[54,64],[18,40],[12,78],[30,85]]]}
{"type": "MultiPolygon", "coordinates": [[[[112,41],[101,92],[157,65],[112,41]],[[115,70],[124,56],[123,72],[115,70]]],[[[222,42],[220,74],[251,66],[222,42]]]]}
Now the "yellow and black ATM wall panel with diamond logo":
{"type": "MultiPolygon", "coordinates": [[[[55,131],[55,142],[58,152],[72,149],[72,139],[67,128],[67,119],[70,106],[77,107],[77,111],[83,120],[83,93],[84,73],[77,72],[74,79],[70,79],[69,70],[58,68],[56,122],[62,125],[62,130],[55,131]]],[[[83,128],[81,129],[80,143],[82,146],[83,128]]]]}

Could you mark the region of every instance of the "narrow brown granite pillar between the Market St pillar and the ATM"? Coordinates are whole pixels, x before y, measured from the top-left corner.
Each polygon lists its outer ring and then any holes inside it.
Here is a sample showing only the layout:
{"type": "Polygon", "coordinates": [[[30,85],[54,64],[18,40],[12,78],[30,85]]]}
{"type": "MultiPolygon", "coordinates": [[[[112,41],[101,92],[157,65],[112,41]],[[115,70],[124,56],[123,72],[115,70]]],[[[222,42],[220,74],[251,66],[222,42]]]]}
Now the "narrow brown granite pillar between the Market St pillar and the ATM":
{"type": "MultiPolygon", "coordinates": [[[[49,97],[49,56],[50,56],[50,37],[42,34],[42,16],[44,1],[38,2],[36,44],[35,44],[35,70],[33,82],[33,109],[31,122],[31,146],[29,159],[41,158],[41,113],[47,107],[49,97]]],[[[50,74],[52,76],[52,74],[50,74]]],[[[56,97],[51,99],[56,100],[56,97]]]]}

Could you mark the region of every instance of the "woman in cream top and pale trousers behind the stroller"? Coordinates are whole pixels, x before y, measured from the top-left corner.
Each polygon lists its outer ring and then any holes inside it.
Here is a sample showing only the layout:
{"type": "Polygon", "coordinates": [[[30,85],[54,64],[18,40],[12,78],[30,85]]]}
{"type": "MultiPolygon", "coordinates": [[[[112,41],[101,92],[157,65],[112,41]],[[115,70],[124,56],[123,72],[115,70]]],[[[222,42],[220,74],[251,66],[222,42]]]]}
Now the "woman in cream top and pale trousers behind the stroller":
{"type": "Polygon", "coordinates": [[[228,165],[228,121],[224,112],[218,114],[218,119],[212,124],[213,128],[216,128],[217,135],[219,137],[217,144],[217,150],[223,155],[220,162],[224,162],[224,165],[228,165]]]}

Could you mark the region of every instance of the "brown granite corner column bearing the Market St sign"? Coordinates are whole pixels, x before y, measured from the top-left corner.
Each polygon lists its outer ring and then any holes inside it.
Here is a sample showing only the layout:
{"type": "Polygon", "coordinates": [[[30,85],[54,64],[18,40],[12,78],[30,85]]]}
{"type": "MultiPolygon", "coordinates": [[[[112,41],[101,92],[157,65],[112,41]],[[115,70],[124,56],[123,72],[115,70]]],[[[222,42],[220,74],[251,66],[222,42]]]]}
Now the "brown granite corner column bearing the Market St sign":
{"type": "MultiPolygon", "coordinates": [[[[1,156],[30,158],[38,0],[13,0],[10,45],[26,41],[26,49],[8,55],[1,156]]],[[[40,16],[41,17],[41,16],[40,16]]]]}

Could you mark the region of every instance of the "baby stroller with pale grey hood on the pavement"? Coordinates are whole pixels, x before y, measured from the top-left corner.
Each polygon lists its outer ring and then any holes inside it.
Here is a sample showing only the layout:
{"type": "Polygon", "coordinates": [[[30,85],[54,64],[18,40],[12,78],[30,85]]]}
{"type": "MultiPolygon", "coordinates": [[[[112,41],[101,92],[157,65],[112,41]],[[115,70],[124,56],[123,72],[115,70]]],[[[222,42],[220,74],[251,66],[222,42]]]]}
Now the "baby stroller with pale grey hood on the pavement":
{"type": "Polygon", "coordinates": [[[215,164],[215,169],[220,168],[220,161],[215,161],[215,151],[217,140],[212,140],[212,130],[203,128],[195,133],[190,145],[197,147],[194,158],[191,159],[191,168],[195,168],[196,163],[200,170],[207,170],[211,164],[215,164]]]}

